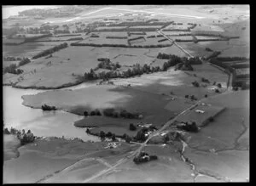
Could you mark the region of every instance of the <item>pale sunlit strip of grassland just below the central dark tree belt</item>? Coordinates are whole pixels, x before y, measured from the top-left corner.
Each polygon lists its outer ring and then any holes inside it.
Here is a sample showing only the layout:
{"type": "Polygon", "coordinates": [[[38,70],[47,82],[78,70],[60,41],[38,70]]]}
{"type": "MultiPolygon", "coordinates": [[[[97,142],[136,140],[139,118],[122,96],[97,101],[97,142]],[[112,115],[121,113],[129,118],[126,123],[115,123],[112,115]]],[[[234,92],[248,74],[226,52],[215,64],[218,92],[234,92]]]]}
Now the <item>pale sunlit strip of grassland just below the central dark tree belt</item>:
{"type": "MultiPolygon", "coordinates": [[[[200,69],[201,65],[194,65],[195,68],[200,69]]],[[[131,84],[132,87],[142,89],[150,93],[165,93],[166,95],[171,95],[172,92],[174,96],[184,98],[185,95],[195,95],[197,99],[201,99],[207,94],[208,96],[215,95],[212,91],[212,85],[209,84],[207,87],[194,87],[191,83],[194,81],[200,84],[206,84],[201,82],[201,76],[209,79],[210,82],[216,81],[221,82],[223,89],[225,87],[225,82],[228,77],[223,72],[215,69],[212,66],[205,67],[206,71],[195,70],[193,72],[184,72],[173,68],[166,72],[157,72],[154,74],[143,75],[139,77],[133,77],[129,79],[117,79],[113,80],[116,85],[128,85],[131,84]],[[193,74],[198,74],[198,76],[193,76],[193,74]],[[192,74],[192,75],[190,75],[192,74]],[[200,76],[200,77],[199,77],[200,76]],[[219,77],[218,77],[219,76],[219,77]]],[[[214,86],[216,87],[216,86],[214,86]]],[[[172,96],[172,95],[171,95],[172,96]]]]}

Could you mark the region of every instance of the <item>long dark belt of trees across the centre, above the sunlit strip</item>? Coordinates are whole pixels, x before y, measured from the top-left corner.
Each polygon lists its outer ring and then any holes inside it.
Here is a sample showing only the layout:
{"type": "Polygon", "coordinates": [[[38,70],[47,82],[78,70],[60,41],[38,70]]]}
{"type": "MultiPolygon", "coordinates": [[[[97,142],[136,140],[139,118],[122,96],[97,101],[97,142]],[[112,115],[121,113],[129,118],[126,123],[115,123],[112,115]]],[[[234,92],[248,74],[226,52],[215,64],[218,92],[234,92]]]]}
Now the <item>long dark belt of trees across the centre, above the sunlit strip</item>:
{"type": "Polygon", "coordinates": [[[169,59],[167,62],[165,62],[162,65],[162,68],[160,66],[149,66],[147,64],[141,66],[139,64],[132,65],[131,69],[128,69],[123,72],[119,72],[119,68],[121,65],[113,64],[110,59],[98,59],[101,61],[101,63],[96,67],[96,69],[90,69],[89,72],[84,73],[84,79],[85,81],[90,81],[90,80],[96,80],[96,79],[103,79],[107,80],[110,78],[128,78],[131,76],[139,76],[143,75],[144,73],[154,73],[158,71],[166,71],[168,70],[169,67],[176,66],[175,70],[193,70],[191,65],[201,65],[201,59],[198,57],[195,58],[180,58],[177,55],[172,55],[172,54],[158,54],[157,58],[159,59],[169,59]],[[99,68],[102,69],[108,69],[111,71],[105,72],[102,71],[100,73],[96,73],[96,70],[99,68]]]}

